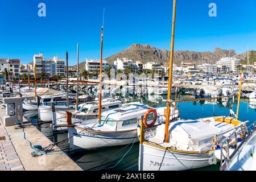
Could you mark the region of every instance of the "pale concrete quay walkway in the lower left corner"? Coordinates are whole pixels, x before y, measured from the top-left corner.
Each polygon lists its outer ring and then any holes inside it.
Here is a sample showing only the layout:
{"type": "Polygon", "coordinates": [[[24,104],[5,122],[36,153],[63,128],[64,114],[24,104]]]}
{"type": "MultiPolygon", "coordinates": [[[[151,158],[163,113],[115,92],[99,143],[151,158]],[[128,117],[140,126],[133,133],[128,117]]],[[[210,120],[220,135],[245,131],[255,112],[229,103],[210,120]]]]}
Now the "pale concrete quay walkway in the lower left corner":
{"type": "MultiPolygon", "coordinates": [[[[6,110],[0,107],[0,171],[81,171],[82,169],[69,156],[60,152],[60,148],[54,146],[55,152],[51,155],[32,157],[33,152],[29,140],[34,145],[46,147],[52,144],[35,126],[30,125],[23,129],[15,129],[15,126],[5,127],[3,116],[6,110]]],[[[23,122],[26,119],[23,118],[23,122]]]]}

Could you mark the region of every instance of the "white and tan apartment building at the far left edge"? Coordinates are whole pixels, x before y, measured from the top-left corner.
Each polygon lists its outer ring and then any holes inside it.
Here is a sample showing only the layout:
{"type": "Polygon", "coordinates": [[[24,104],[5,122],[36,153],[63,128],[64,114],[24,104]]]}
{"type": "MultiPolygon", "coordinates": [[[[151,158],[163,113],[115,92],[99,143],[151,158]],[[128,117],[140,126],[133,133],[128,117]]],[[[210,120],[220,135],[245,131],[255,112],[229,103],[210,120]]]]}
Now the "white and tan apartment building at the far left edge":
{"type": "Polygon", "coordinates": [[[0,59],[0,72],[9,71],[14,77],[19,77],[19,59],[0,59]]]}

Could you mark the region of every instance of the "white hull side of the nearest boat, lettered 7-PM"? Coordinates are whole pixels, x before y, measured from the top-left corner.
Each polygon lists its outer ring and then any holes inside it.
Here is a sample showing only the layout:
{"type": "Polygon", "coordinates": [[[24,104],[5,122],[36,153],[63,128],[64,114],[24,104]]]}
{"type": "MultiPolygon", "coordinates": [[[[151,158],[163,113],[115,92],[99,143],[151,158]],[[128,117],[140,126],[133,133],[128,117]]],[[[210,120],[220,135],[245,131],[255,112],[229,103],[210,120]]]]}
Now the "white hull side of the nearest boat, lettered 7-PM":
{"type": "MultiPolygon", "coordinates": [[[[180,171],[206,167],[213,164],[214,152],[188,154],[166,151],[164,149],[140,144],[140,171],[180,171]],[[166,151],[166,154],[164,155],[166,151]],[[164,156],[164,159],[163,159],[164,156]],[[163,162],[162,162],[163,161],[163,162]]],[[[217,159],[216,159],[217,160],[217,159]]]]}

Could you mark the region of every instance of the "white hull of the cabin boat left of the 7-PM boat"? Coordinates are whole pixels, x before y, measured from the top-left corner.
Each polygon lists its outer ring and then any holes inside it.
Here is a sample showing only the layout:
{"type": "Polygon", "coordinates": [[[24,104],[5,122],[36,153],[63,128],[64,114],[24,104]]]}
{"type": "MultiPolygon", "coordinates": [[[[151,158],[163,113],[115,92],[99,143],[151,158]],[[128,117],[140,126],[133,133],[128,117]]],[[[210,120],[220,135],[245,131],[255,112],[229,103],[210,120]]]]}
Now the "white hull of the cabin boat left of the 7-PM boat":
{"type": "Polygon", "coordinates": [[[115,133],[97,133],[82,131],[75,127],[68,127],[68,137],[70,150],[93,150],[102,147],[121,146],[138,142],[137,130],[115,133]],[[137,139],[135,139],[137,138],[137,139]]]}

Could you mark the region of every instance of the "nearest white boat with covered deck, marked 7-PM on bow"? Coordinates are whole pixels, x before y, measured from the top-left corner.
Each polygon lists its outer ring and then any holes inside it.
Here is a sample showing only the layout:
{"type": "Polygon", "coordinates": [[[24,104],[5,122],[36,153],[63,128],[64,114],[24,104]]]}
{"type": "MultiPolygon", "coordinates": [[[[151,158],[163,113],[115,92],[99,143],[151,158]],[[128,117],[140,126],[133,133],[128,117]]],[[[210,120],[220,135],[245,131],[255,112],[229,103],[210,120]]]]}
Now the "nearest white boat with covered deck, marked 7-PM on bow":
{"type": "MultiPolygon", "coordinates": [[[[209,117],[170,123],[170,141],[164,143],[165,125],[156,127],[153,137],[141,141],[139,170],[179,171],[206,167],[212,161],[215,143],[241,130],[243,123],[233,117],[209,117]]],[[[237,134],[239,136],[239,134],[237,134]]]]}

